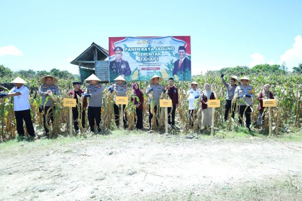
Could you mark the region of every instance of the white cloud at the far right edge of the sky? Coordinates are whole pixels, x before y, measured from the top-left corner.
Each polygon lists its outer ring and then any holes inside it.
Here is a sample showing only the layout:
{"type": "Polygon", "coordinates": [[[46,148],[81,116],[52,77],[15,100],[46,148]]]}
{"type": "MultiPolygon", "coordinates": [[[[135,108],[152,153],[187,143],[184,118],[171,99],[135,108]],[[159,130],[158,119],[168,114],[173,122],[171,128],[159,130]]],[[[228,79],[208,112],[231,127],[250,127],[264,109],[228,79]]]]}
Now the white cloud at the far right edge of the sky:
{"type": "Polygon", "coordinates": [[[302,63],[302,37],[297,35],[294,38],[294,43],[292,48],[286,50],[284,54],[280,56],[278,64],[281,65],[282,62],[286,63],[286,66],[291,69],[294,66],[297,66],[299,63],[302,63]]]}

